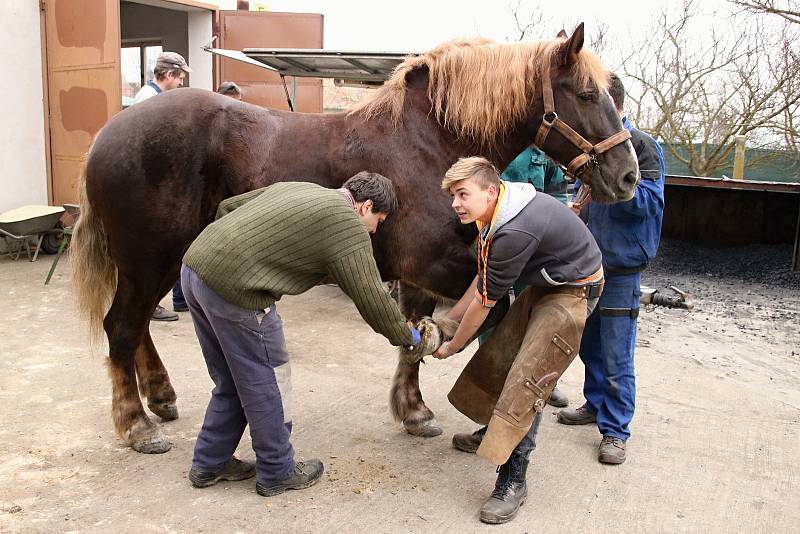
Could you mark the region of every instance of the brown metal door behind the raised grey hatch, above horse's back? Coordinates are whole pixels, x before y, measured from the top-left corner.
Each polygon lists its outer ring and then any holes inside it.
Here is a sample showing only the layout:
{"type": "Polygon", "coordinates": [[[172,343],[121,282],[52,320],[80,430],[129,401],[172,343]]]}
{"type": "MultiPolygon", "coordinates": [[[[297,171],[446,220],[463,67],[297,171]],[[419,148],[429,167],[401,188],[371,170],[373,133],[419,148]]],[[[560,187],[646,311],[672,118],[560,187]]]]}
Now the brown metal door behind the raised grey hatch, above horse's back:
{"type": "MultiPolygon", "coordinates": [[[[219,47],[244,48],[322,48],[322,15],[309,13],[264,13],[220,11],[219,47]]],[[[219,80],[236,82],[244,100],[273,109],[288,110],[281,78],[232,59],[220,59],[219,80]]],[[[295,111],[322,113],[322,80],[286,77],[289,95],[295,96],[295,111]]]]}

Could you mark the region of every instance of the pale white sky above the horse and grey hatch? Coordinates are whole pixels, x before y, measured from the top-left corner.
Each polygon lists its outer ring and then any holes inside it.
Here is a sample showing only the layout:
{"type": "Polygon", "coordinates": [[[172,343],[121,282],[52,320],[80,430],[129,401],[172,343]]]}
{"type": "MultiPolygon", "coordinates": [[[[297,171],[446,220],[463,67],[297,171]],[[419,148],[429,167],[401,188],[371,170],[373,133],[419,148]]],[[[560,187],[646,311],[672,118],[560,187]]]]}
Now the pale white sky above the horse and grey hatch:
{"type": "MultiPolygon", "coordinates": [[[[208,0],[206,0],[208,1],[208,0]]],[[[222,9],[235,9],[236,0],[212,0],[222,9]]],[[[555,37],[585,23],[589,39],[604,24],[612,38],[640,37],[664,5],[677,0],[539,0],[520,1],[525,18],[543,15],[542,29],[534,35],[555,37]]],[[[496,41],[516,41],[512,11],[517,0],[405,0],[359,2],[355,0],[250,1],[251,8],[265,5],[271,11],[322,13],[324,48],[363,51],[425,51],[457,37],[481,36],[496,41]]],[[[725,0],[704,0],[704,10],[729,11],[725,0]]]]}

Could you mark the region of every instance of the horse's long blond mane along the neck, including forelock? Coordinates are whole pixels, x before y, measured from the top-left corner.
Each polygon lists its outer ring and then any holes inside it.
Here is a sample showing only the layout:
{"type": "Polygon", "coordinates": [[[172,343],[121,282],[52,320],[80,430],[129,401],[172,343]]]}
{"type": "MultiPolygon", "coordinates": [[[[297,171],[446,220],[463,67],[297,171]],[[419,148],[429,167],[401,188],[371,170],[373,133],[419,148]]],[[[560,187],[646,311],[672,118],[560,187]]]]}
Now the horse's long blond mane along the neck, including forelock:
{"type": "MultiPolygon", "coordinates": [[[[406,58],[383,87],[356,104],[350,113],[361,113],[368,119],[386,113],[399,121],[406,75],[427,67],[428,97],[439,124],[463,139],[491,146],[494,139],[502,137],[526,115],[537,80],[542,72],[549,72],[553,55],[565,41],[449,41],[420,56],[406,58]]],[[[608,86],[608,72],[600,58],[586,49],[578,54],[572,75],[579,86],[608,86]]]]}

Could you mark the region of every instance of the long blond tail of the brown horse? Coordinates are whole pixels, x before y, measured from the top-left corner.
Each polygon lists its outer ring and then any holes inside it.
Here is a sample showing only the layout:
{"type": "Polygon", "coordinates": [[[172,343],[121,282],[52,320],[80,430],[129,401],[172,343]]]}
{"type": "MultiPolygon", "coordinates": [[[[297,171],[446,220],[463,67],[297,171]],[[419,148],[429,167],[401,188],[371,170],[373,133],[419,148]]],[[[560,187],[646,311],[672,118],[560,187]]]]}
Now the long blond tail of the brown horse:
{"type": "Polygon", "coordinates": [[[78,186],[81,214],[70,242],[72,283],[81,317],[89,322],[92,340],[103,334],[103,317],[117,287],[117,267],[108,254],[103,223],[86,194],[86,164],[81,165],[78,186]]]}

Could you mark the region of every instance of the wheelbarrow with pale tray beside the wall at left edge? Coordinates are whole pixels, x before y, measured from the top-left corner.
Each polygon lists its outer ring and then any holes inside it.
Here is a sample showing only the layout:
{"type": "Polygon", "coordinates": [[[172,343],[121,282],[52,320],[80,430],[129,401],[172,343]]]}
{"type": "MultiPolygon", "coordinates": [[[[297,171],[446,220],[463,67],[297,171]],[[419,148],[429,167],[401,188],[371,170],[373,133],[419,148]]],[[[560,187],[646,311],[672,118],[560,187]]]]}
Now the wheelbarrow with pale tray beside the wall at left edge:
{"type": "Polygon", "coordinates": [[[25,250],[28,259],[36,261],[45,236],[62,233],[58,224],[63,213],[61,206],[22,206],[0,213],[0,237],[6,242],[8,256],[17,260],[25,250]]]}

